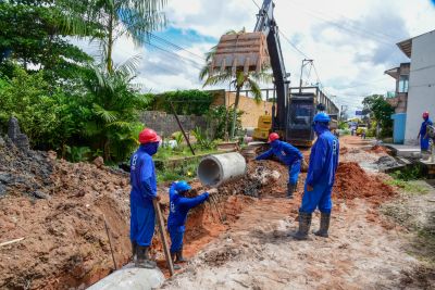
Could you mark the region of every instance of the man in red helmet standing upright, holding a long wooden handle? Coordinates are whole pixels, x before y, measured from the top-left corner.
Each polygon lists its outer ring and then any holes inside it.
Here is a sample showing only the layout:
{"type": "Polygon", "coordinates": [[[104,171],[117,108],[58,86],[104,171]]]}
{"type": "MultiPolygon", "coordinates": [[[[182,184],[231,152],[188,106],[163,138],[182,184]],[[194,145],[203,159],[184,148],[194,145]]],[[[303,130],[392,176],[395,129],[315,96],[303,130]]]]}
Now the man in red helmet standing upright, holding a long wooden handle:
{"type": "Polygon", "coordinates": [[[152,200],[157,196],[154,155],[161,138],[152,129],[139,134],[140,147],[130,159],[130,232],[133,257],[136,254],[136,267],[156,268],[149,249],[154,235],[156,213],[152,200]]]}

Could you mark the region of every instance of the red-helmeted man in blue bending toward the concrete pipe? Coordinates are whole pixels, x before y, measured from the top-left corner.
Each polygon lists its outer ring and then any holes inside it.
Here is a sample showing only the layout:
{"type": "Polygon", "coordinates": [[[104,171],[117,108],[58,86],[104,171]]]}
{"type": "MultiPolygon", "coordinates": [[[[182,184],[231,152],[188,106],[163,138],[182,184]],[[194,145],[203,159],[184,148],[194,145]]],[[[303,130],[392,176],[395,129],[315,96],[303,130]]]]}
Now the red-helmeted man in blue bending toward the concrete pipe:
{"type": "Polygon", "coordinates": [[[256,160],[265,160],[275,155],[282,163],[288,166],[287,198],[293,199],[293,192],[295,192],[298,187],[303,155],[296,147],[279,141],[279,135],[276,133],[271,133],[269,135],[268,142],[271,144],[271,149],[257,156],[256,160]]]}

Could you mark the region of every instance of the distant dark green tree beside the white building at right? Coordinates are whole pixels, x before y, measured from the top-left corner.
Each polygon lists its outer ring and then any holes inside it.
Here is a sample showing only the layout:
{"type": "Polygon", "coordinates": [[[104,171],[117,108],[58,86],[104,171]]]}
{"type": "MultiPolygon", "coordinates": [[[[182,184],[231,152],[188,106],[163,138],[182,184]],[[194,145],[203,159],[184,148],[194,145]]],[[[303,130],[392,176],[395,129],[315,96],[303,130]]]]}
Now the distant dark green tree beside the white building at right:
{"type": "Polygon", "coordinates": [[[365,97],[362,101],[364,105],[363,114],[369,115],[371,119],[375,121],[382,129],[382,137],[389,137],[393,134],[393,119],[394,108],[386,101],[382,94],[372,94],[365,97]]]}

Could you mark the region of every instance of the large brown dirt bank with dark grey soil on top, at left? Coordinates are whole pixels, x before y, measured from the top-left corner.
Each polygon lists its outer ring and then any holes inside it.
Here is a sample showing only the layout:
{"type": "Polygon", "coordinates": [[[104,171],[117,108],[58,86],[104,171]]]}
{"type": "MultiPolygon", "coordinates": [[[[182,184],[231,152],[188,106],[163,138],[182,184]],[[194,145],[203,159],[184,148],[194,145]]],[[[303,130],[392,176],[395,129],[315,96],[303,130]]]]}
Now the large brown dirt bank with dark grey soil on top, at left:
{"type": "Polygon", "coordinates": [[[1,289],[84,287],[108,275],[113,263],[104,217],[117,266],[127,262],[126,175],[8,147],[0,152],[0,175],[15,184],[5,184],[0,199],[0,237],[24,240],[0,248],[1,289]],[[35,199],[35,191],[42,199],[35,199]]]}

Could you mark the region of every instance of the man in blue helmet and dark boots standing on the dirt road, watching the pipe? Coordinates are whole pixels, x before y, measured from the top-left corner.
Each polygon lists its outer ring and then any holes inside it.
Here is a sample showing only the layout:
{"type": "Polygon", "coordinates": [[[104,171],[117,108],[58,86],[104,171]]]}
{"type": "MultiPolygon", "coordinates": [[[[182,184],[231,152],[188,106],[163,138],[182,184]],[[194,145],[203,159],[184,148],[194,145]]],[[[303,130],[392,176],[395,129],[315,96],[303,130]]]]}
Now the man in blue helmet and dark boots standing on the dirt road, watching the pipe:
{"type": "Polygon", "coordinates": [[[320,229],[314,234],[328,237],[332,201],[331,194],[338,167],[339,143],[330,130],[331,118],[326,113],[314,116],[313,129],[318,139],[311,148],[302,204],[299,209],[299,230],[291,236],[298,240],[308,239],[312,213],[321,212],[320,229]]]}

